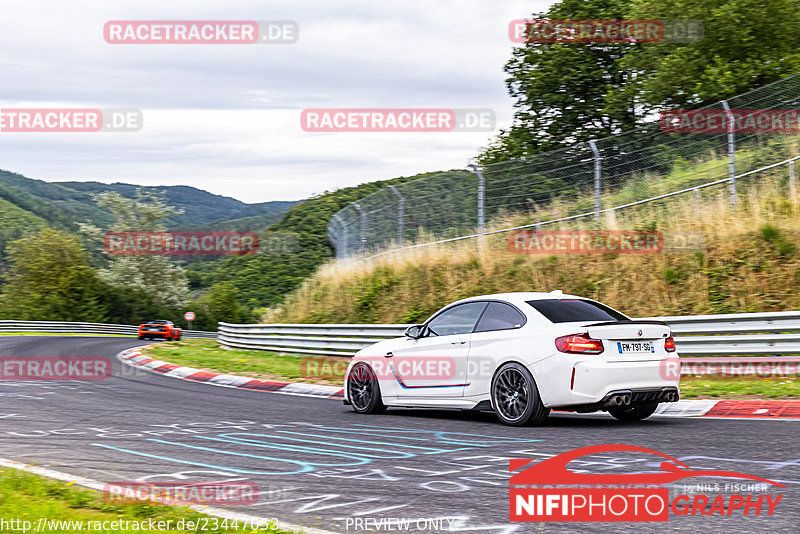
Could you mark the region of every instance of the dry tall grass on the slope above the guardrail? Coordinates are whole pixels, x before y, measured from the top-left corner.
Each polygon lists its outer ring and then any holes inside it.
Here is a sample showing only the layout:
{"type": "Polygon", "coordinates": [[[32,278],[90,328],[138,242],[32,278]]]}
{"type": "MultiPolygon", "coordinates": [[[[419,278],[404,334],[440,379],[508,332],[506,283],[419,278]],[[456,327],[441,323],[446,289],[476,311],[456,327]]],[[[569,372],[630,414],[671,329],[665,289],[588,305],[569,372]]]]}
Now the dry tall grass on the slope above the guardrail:
{"type": "Polygon", "coordinates": [[[726,186],[703,190],[697,205],[688,194],[559,227],[701,232],[697,252],[517,254],[497,234],[480,251],[470,239],[331,262],[262,320],[406,323],[463,297],[553,289],[639,317],[800,309],[800,202],[788,197],[785,173],[742,181],[735,209],[726,186]]]}

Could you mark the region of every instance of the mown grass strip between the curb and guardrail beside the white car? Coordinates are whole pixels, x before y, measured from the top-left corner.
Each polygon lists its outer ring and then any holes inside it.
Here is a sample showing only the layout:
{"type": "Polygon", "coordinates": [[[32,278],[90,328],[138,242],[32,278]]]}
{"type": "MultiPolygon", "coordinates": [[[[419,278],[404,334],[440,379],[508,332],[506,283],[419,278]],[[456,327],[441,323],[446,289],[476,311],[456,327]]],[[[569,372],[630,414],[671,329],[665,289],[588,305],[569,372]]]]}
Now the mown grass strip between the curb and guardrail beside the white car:
{"type": "MultiPolygon", "coordinates": [[[[325,358],[289,356],[258,350],[224,350],[212,339],[191,339],[149,345],[143,352],[152,358],[198,369],[252,376],[264,380],[288,380],[339,386],[342,379],[308,376],[311,369],[334,370],[333,362],[325,358]],[[308,365],[317,360],[317,367],[308,365]],[[322,363],[327,361],[328,367],[322,363]],[[305,363],[304,363],[305,362],[305,363]]],[[[340,369],[343,366],[340,365],[340,369]]],[[[681,378],[681,398],[684,399],[800,399],[797,377],[696,377],[681,378]]]]}

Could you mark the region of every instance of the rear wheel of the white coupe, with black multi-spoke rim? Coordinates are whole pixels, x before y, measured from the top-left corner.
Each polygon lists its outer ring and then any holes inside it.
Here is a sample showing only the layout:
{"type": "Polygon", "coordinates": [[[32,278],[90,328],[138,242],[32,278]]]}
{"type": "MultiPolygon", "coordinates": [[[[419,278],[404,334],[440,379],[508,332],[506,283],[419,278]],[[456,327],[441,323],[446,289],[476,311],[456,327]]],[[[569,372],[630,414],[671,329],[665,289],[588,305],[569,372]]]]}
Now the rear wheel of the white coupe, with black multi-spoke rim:
{"type": "Polygon", "coordinates": [[[542,424],[550,415],[530,371],[515,362],[500,367],[492,378],[492,409],[504,425],[542,424]]]}

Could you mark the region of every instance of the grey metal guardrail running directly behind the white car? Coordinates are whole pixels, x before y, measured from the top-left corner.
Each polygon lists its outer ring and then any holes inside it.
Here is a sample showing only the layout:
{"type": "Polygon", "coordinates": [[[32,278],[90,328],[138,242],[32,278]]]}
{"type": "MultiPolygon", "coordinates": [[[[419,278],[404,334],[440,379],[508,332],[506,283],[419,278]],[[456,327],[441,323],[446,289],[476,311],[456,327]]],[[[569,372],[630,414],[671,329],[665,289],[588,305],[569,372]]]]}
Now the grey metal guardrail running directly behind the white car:
{"type": "MultiPolygon", "coordinates": [[[[669,324],[678,352],[684,357],[800,355],[800,312],[642,319],[669,324]]],[[[373,343],[402,336],[408,326],[219,323],[218,339],[226,348],[350,357],[373,343]]]]}

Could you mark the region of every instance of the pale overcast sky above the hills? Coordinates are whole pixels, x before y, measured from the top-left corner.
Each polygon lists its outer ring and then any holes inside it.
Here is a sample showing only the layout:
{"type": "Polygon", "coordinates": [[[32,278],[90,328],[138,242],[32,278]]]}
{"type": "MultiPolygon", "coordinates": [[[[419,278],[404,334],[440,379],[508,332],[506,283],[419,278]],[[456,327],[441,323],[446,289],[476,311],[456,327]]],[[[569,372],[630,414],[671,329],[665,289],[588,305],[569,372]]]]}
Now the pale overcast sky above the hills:
{"type": "Polygon", "coordinates": [[[0,169],[191,185],[245,202],[463,168],[494,132],[309,133],[305,108],[490,108],[507,126],[512,19],[550,1],[18,0],[0,17],[0,107],[138,108],[135,133],[0,132],[0,169]],[[109,20],[293,20],[273,45],[112,45],[109,20]]]}

